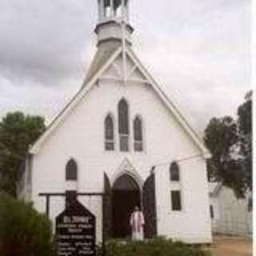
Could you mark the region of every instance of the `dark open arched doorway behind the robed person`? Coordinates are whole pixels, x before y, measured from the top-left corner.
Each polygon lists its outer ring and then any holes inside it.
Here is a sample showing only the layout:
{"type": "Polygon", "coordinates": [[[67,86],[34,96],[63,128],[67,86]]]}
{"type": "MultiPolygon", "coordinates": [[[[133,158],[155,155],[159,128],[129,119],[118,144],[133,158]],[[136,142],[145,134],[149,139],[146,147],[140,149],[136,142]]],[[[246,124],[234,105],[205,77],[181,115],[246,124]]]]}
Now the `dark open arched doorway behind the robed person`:
{"type": "Polygon", "coordinates": [[[141,206],[141,190],[138,182],[129,174],[123,174],[112,188],[112,231],[114,238],[130,236],[130,214],[134,206],[141,206]]]}

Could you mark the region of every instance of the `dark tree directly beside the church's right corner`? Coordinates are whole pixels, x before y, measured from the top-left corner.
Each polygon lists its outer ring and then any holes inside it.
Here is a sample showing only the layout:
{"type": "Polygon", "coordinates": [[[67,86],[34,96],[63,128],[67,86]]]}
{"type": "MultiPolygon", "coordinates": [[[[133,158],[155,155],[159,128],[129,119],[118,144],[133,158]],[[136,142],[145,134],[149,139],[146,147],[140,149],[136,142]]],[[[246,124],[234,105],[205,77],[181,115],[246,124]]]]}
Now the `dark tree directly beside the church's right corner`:
{"type": "Polygon", "coordinates": [[[238,149],[238,126],[231,117],[212,118],[206,127],[204,142],[212,154],[207,162],[211,181],[223,182],[238,198],[246,191],[238,149]]]}

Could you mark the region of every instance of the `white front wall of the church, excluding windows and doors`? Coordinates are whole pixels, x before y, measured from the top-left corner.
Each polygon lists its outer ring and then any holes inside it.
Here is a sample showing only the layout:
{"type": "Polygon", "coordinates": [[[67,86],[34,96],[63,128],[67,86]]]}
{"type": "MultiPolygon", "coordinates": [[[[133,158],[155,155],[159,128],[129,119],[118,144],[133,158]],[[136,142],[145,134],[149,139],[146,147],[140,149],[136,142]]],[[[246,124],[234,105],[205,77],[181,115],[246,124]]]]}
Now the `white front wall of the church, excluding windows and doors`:
{"type": "MultiPolygon", "coordinates": [[[[110,72],[111,73],[111,70],[110,72]]],[[[136,74],[138,77],[138,74],[136,74]]],[[[46,202],[38,198],[43,192],[65,191],[65,166],[70,158],[78,163],[78,192],[102,192],[103,173],[113,182],[118,166],[129,159],[134,173],[142,179],[150,174],[151,166],[200,154],[170,111],[166,109],[152,88],[142,84],[123,86],[118,82],[99,82],[73,110],[50,138],[43,144],[33,161],[34,206],[44,212],[46,202]],[[130,115],[130,152],[118,150],[118,102],[126,98],[130,115]],[[114,115],[114,152],[104,150],[104,118],[114,115]],[[144,151],[134,152],[132,122],[140,114],[144,129],[144,151]]],[[[184,210],[170,212],[170,183],[166,175],[169,166],[156,168],[158,234],[174,236],[186,242],[210,242],[210,214],[206,184],[206,163],[202,158],[183,162],[182,194],[184,210]]],[[[98,240],[101,238],[102,202],[81,199],[97,216],[98,240]]],[[[50,204],[50,218],[54,220],[64,208],[64,200],[56,198],[50,204]]]]}

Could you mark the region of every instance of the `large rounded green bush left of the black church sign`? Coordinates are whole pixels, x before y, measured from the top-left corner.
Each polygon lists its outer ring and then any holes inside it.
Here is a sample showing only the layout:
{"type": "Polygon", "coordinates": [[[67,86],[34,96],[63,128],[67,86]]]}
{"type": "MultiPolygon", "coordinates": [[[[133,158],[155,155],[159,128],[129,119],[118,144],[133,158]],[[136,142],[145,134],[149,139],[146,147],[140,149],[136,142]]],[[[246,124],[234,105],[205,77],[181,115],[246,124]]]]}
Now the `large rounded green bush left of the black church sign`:
{"type": "Polygon", "coordinates": [[[0,251],[2,256],[52,255],[50,221],[31,204],[0,194],[0,251]]]}

